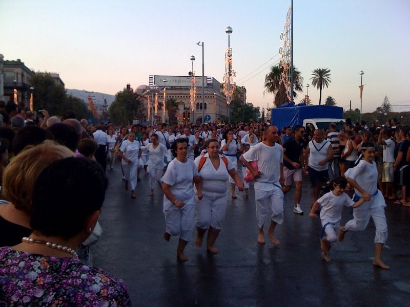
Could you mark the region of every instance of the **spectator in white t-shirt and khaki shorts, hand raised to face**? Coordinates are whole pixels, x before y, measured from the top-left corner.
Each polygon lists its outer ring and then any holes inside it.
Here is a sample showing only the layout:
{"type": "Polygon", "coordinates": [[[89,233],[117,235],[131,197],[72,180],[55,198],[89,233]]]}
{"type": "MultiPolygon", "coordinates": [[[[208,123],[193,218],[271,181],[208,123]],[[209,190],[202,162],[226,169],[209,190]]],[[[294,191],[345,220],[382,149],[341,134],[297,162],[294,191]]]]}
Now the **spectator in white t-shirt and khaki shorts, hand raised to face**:
{"type": "Polygon", "coordinates": [[[377,144],[383,145],[383,172],[381,176],[381,182],[384,183],[384,198],[396,199],[394,194],[394,170],[393,165],[395,162],[394,149],[395,142],[392,140],[392,130],[381,129],[377,144]]]}

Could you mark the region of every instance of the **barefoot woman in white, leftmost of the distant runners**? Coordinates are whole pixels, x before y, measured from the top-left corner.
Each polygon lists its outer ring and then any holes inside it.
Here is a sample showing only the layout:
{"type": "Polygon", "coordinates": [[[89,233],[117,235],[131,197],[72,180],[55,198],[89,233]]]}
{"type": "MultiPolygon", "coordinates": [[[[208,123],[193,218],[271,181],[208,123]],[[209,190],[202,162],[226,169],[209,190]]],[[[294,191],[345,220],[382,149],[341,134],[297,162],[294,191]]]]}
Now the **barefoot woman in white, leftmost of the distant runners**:
{"type": "Polygon", "coordinates": [[[128,134],[128,140],[122,141],[118,156],[122,158],[122,169],[124,169],[125,173],[125,190],[128,190],[128,182],[130,182],[131,198],[135,199],[138,159],[141,157],[141,146],[138,141],[135,141],[135,134],[132,131],[128,134]]]}

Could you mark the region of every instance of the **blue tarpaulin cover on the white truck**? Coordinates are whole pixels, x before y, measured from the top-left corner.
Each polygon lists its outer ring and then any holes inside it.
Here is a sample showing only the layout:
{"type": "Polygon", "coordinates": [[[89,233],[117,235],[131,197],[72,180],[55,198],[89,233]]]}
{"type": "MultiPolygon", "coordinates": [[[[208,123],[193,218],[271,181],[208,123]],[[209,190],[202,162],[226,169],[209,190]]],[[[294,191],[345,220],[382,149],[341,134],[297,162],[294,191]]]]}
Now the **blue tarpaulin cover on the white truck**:
{"type": "Polygon", "coordinates": [[[301,125],[306,118],[342,118],[343,108],[330,105],[282,105],[272,109],[271,124],[278,127],[301,125]]]}

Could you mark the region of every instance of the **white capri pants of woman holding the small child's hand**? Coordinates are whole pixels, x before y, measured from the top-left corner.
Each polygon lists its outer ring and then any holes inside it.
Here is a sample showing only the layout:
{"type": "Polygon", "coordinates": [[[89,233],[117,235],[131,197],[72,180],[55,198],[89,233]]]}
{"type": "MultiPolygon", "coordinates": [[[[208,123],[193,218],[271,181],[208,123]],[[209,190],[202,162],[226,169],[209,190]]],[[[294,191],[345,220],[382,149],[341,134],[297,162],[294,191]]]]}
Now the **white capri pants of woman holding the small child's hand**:
{"type": "Polygon", "coordinates": [[[350,220],[344,226],[347,231],[363,231],[373,218],[376,226],[375,243],[386,243],[387,240],[387,223],[384,214],[385,202],[383,195],[379,191],[376,196],[372,196],[371,200],[363,203],[360,207],[353,209],[353,220],[350,220]],[[373,206],[377,202],[383,202],[384,206],[373,206]]]}

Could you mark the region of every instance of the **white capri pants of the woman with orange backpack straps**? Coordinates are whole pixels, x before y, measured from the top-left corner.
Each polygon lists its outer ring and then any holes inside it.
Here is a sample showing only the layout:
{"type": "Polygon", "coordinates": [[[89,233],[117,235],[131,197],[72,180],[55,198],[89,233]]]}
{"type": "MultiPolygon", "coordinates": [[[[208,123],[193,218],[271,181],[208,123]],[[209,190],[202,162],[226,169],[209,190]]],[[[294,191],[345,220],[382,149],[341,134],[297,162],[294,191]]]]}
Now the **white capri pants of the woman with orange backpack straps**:
{"type": "MultiPolygon", "coordinates": [[[[227,191],[228,192],[228,191],[227,191]]],[[[201,229],[208,229],[209,226],[215,229],[221,229],[222,221],[227,211],[228,199],[227,192],[210,193],[202,191],[202,200],[196,201],[195,224],[201,229]]]]}

